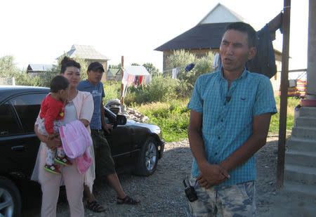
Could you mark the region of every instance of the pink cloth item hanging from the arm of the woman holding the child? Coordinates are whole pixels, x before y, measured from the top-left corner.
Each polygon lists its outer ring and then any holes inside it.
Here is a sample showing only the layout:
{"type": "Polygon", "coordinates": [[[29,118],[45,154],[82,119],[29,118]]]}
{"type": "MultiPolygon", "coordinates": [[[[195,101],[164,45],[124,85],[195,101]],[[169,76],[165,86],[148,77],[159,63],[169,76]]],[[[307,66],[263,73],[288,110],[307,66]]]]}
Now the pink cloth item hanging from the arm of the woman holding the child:
{"type": "Polygon", "coordinates": [[[88,147],[92,145],[91,136],[81,121],[72,121],[59,127],[62,147],[67,157],[76,159],[79,173],[86,173],[92,158],[88,147]]]}

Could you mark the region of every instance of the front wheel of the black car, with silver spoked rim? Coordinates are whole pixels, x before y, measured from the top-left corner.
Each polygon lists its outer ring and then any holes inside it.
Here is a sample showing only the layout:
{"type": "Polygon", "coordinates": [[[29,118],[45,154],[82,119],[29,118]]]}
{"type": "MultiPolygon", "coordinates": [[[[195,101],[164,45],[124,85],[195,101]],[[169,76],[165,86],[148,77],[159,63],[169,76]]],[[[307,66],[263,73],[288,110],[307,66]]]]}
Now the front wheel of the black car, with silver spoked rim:
{"type": "Polygon", "coordinates": [[[138,154],[136,164],[136,174],[140,176],[150,176],[157,168],[158,163],[158,145],[154,138],[145,140],[143,147],[138,154]]]}

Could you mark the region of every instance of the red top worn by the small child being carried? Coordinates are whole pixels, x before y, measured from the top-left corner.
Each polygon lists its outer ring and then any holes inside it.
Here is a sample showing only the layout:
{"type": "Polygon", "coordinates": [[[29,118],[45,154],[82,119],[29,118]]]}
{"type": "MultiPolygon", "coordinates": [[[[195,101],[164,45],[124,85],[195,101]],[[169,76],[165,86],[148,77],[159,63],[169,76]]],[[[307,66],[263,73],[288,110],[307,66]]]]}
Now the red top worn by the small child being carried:
{"type": "Polygon", "coordinates": [[[44,125],[47,133],[54,133],[54,120],[64,119],[65,103],[56,100],[48,94],[41,102],[41,113],[39,117],[44,118],[44,125]]]}

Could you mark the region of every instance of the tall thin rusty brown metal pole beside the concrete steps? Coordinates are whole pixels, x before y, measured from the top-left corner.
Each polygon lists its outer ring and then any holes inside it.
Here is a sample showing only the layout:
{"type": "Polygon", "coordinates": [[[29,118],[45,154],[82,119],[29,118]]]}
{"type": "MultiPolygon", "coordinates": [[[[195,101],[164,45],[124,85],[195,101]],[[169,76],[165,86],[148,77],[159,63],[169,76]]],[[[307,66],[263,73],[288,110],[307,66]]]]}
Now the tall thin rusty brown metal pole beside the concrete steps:
{"type": "Polygon", "coordinates": [[[277,152],[277,188],[283,187],[285,142],[287,136],[287,88],[289,86],[289,32],[291,0],[284,0],[282,20],[282,72],[281,72],[281,100],[279,108],[279,143],[277,152]]]}

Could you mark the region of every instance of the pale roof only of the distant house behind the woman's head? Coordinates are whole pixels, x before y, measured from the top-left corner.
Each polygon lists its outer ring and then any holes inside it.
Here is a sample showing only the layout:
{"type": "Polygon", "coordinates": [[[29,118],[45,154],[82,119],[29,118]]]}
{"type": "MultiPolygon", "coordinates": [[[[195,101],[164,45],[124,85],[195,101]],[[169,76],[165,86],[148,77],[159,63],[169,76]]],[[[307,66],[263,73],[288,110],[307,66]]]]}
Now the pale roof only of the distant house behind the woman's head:
{"type": "Polygon", "coordinates": [[[82,58],[86,60],[110,60],[105,55],[96,51],[91,45],[74,44],[66,55],[70,58],[82,58]]]}

